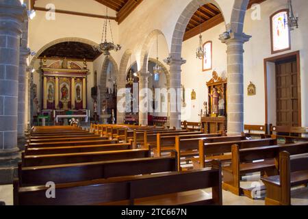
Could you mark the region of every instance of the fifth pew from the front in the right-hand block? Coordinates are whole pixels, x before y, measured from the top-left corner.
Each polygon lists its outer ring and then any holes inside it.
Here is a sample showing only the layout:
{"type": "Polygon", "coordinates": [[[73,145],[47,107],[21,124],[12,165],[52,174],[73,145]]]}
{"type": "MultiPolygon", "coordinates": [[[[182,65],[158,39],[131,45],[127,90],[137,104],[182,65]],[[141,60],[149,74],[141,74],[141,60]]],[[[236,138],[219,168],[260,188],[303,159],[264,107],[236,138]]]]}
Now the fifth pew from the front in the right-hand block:
{"type": "MultiPolygon", "coordinates": [[[[175,150],[175,145],[177,142],[177,139],[196,139],[196,138],[211,138],[211,137],[218,137],[220,134],[205,134],[205,133],[196,133],[194,132],[188,132],[183,135],[174,135],[174,136],[164,136],[161,134],[157,134],[157,140],[156,140],[156,147],[153,147],[153,152],[155,157],[162,156],[163,152],[170,152],[172,150],[175,150]]],[[[189,143],[191,144],[191,142],[189,143]]],[[[196,144],[196,149],[198,149],[198,141],[196,144]]]]}

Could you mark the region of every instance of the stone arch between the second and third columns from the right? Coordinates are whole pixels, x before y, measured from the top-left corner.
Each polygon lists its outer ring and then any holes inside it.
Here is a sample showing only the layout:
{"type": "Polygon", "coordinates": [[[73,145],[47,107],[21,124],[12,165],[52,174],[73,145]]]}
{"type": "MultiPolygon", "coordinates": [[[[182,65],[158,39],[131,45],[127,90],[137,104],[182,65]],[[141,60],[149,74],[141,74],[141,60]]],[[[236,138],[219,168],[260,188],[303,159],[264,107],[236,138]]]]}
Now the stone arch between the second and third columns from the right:
{"type": "MultiPolygon", "coordinates": [[[[148,70],[149,52],[150,52],[150,49],[151,49],[153,43],[155,42],[154,37],[158,36],[158,35],[164,36],[164,38],[166,40],[166,37],[162,33],[162,31],[160,31],[159,29],[155,29],[155,30],[151,31],[149,36],[147,36],[147,38],[146,38],[146,40],[145,40],[145,42],[142,46],[142,51],[141,51],[141,56],[140,56],[140,66],[141,66],[140,70],[142,72],[146,72],[148,70]]],[[[164,65],[162,65],[162,66],[164,66],[164,65]]]]}

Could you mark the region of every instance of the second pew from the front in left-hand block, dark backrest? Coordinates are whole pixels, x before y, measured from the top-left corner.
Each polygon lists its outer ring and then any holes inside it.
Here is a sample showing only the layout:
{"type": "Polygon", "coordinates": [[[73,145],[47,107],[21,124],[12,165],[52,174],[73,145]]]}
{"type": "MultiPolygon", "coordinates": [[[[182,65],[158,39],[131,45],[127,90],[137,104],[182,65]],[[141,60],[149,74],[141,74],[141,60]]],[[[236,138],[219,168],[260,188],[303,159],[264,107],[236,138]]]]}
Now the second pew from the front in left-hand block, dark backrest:
{"type": "Polygon", "coordinates": [[[130,175],[177,171],[176,157],[123,159],[84,164],[22,167],[18,165],[19,186],[70,183],[130,175]]]}

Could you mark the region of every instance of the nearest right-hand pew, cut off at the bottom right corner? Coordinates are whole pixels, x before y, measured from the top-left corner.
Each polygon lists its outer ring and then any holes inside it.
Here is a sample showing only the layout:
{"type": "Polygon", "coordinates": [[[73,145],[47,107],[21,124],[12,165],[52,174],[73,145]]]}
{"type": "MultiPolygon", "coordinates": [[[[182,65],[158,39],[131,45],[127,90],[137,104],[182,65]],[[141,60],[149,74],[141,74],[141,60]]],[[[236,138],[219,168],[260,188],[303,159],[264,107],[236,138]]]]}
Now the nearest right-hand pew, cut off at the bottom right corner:
{"type": "Polygon", "coordinates": [[[280,175],[263,177],[266,185],[266,205],[291,205],[291,188],[308,183],[308,155],[292,156],[287,151],[279,155],[280,175]]]}

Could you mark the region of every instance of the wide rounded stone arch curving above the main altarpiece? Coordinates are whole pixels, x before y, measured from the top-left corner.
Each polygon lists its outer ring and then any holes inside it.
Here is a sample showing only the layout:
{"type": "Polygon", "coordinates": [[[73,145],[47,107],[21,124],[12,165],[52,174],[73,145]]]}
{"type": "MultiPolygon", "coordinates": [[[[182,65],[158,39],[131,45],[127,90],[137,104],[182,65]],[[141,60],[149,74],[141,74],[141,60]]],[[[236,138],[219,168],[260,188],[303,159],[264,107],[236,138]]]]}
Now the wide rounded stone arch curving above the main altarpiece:
{"type": "Polygon", "coordinates": [[[42,54],[42,52],[44,52],[46,49],[48,49],[49,47],[52,47],[55,44],[58,44],[60,42],[82,42],[84,44],[89,44],[90,46],[98,46],[98,44],[96,42],[93,42],[91,40],[86,40],[84,38],[76,38],[76,37],[67,37],[67,38],[60,38],[57,40],[53,40],[47,44],[44,45],[44,47],[42,47],[37,53],[36,55],[34,55],[34,57],[32,58],[30,64],[29,64],[29,68],[33,68],[34,67],[34,63],[36,62],[36,60],[38,60],[38,57],[40,56],[40,54],[42,54]]]}

